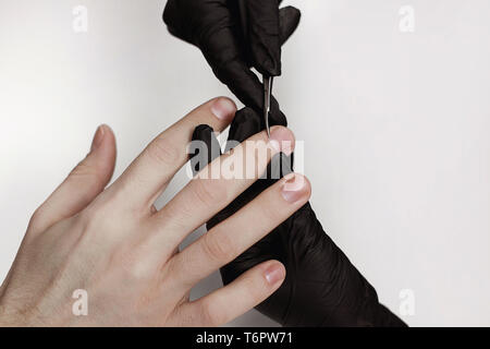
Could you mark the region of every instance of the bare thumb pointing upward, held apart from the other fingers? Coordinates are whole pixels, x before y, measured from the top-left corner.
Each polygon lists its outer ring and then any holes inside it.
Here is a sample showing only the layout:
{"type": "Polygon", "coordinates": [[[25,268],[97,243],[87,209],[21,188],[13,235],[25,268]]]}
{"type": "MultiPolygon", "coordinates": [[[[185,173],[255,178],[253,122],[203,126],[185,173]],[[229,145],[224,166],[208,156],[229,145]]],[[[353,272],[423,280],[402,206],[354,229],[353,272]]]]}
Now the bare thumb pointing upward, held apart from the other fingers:
{"type": "Polygon", "coordinates": [[[29,228],[45,231],[91,203],[109,183],[115,165],[115,137],[108,125],[100,125],[90,153],[34,214],[29,228]]]}

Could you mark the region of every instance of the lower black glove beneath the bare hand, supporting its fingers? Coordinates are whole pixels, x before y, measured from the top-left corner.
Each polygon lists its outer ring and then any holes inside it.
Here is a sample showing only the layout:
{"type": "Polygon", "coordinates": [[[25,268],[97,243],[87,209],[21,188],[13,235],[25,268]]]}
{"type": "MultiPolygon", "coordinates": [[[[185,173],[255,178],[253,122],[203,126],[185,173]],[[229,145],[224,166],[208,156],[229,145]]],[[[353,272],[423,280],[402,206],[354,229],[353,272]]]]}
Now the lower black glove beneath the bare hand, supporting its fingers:
{"type": "MultiPolygon", "coordinates": [[[[260,130],[260,117],[245,108],[236,113],[229,140],[243,142],[260,130]]],[[[219,143],[207,125],[196,128],[193,139],[207,144],[208,149],[218,149],[215,154],[209,152],[208,158],[204,159],[198,152],[192,155],[193,170],[197,172],[220,156],[219,143]]],[[[285,156],[281,156],[284,160],[285,156]]],[[[278,165],[281,156],[272,160],[272,167],[278,165]]],[[[291,168],[285,172],[290,171],[291,168]]],[[[207,228],[211,229],[233,215],[273,182],[272,179],[258,180],[213,217],[207,228]]],[[[376,290],[327,236],[309,203],[224,266],[221,269],[224,285],[269,260],[284,264],[286,278],[257,310],[283,326],[406,326],[379,303],[376,290]]]]}

